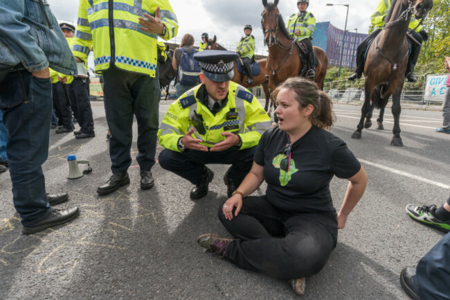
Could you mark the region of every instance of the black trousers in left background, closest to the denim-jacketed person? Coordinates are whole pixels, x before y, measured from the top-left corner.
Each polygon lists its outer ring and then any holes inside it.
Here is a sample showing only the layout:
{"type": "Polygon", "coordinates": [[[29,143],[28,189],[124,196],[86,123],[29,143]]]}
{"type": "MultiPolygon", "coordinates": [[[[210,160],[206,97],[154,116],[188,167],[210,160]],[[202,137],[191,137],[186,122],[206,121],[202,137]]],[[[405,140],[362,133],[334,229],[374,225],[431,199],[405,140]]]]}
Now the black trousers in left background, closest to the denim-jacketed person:
{"type": "Polygon", "coordinates": [[[53,105],[58,116],[58,123],[67,129],[73,129],[71,101],[69,100],[69,86],[62,82],[52,84],[53,105]]]}

